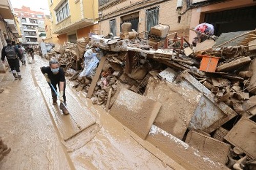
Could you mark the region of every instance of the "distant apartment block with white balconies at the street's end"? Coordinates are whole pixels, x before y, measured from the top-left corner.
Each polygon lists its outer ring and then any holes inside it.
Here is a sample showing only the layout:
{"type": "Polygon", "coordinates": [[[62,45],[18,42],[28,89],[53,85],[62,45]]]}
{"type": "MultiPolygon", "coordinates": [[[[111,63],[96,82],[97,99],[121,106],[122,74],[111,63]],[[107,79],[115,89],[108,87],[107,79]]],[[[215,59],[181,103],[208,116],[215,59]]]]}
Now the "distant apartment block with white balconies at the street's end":
{"type": "Polygon", "coordinates": [[[40,33],[38,29],[45,29],[44,13],[33,11],[29,7],[24,6],[21,9],[14,8],[14,11],[20,23],[20,31],[22,33],[21,42],[27,45],[38,44],[38,37],[40,33]]]}

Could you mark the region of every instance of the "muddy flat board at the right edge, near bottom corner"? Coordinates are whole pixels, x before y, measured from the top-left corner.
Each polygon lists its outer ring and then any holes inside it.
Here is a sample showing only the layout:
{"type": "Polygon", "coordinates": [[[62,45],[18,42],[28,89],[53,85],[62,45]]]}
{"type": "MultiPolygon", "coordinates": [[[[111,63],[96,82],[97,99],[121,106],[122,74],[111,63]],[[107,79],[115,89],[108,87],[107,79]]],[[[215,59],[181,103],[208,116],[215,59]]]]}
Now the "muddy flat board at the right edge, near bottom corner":
{"type": "Polygon", "coordinates": [[[228,142],[241,148],[247,156],[256,159],[256,123],[242,117],[224,137],[228,142]]]}

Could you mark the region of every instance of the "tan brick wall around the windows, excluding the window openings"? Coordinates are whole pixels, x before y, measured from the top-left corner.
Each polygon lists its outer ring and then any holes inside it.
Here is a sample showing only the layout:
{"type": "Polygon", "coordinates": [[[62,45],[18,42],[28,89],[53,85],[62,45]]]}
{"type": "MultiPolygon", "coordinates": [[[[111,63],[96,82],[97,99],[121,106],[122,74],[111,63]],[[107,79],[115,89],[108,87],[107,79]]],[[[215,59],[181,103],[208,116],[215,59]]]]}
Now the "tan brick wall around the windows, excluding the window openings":
{"type": "MultiPolygon", "coordinates": [[[[100,33],[107,35],[110,33],[110,20],[116,19],[116,33],[120,36],[120,25],[122,17],[139,12],[138,32],[146,30],[146,10],[154,7],[159,7],[159,23],[170,26],[169,32],[178,32],[179,36],[189,34],[189,26],[191,19],[191,10],[188,10],[184,15],[177,12],[177,1],[157,1],[162,3],[155,3],[156,1],[124,1],[110,8],[99,7],[102,12],[100,24],[100,33]],[[135,5],[138,4],[138,5],[135,5]],[[178,23],[178,17],[180,23],[178,23]]],[[[186,10],[186,3],[183,0],[183,7],[181,12],[186,10]]]]}

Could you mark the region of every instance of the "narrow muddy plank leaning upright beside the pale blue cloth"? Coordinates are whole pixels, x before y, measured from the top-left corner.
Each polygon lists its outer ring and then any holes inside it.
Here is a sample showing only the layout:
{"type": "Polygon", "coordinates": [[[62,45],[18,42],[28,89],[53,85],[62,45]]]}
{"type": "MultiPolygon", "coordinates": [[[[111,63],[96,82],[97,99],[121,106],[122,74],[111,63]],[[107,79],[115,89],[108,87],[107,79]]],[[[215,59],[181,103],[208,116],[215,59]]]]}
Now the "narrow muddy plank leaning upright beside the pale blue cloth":
{"type": "Polygon", "coordinates": [[[90,88],[89,88],[89,91],[88,91],[88,93],[87,93],[87,95],[86,95],[87,98],[91,98],[92,95],[93,95],[93,91],[94,91],[94,89],[95,89],[95,87],[96,87],[96,84],[97,84],[97,82],[98,82],[98,80],[99,80],[99,77],[100,77],[100,74],[101,74],[101,70],[102,70],[103,65],[104,65],[104,63],[105,63],[105,60],[106,60],[106,57],[105,57],[105,56],[103,56],[103,57],[101,58],[101,60],[100,60],[99,66],[98,66],[98,68],[97,68],[97,70],[96,70],[96,74],[95,74],[94,77],[93,77],[92,84],[91,84],[91,86],[90,86],[90,88]]]}

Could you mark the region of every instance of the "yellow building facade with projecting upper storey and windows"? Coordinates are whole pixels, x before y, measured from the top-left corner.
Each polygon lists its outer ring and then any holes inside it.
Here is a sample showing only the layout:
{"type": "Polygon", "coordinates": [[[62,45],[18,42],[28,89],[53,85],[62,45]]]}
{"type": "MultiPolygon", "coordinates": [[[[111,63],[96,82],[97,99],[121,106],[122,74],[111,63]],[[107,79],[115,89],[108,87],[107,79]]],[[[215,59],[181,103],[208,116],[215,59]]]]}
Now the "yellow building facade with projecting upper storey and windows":
{"type": "Polygon", "coordinates": [[[90,33],[98,33],[98,0],[48,0],[52,32],[57,42],[76,43],[90,33]]]}

